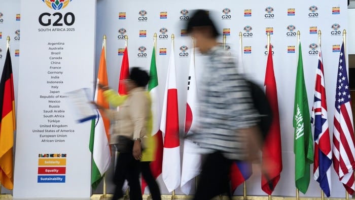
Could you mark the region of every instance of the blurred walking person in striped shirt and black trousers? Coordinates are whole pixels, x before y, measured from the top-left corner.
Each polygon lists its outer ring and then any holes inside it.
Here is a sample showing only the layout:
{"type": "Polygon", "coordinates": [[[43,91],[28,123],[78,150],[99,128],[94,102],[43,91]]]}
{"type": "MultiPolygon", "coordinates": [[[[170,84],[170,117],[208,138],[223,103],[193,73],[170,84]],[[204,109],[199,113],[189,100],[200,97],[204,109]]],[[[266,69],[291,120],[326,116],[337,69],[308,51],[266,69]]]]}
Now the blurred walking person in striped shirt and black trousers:
{"type": "Polygon", "coordinates": [[[195,47],[208,57],[197,85],[197,126],[187,139],[205,154],[194,199],[211,199],[230,192],[228,175],[234,160],[258,159],[259,114],[235,58],[217,42],[219,32],[209,13],[195,11],[186,29],[195,38],[195,47]]]}

